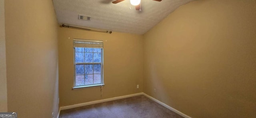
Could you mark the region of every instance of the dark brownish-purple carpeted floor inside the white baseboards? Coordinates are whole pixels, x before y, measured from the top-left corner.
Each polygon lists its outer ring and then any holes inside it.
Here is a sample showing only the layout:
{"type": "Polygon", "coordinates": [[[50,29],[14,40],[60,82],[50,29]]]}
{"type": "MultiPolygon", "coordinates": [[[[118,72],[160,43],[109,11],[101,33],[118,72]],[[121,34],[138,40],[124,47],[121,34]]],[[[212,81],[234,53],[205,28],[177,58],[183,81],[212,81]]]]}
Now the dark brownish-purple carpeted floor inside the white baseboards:
{"type": "Polygon", "coordinates": [[[134,96],[60,111],[60,118],[183,118],[150,100],[134,96]]]}

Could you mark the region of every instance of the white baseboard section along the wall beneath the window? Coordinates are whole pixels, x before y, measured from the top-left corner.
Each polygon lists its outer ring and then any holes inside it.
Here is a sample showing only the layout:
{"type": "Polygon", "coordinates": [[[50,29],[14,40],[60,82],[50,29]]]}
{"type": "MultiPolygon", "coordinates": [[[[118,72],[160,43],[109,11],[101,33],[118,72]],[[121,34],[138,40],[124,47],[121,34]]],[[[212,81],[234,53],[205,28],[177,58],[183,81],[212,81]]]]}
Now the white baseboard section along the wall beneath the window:
{"type": "Polygon", "coordinates": [[[130,94],[130,95],[126,95],[126,96],[119,96],[119,97],[108,98],[108,99],[104,99],[104,100],[96,100],[96,101],[92,101],[92,102],[85,102],[85,103],[81,103],[81,104],[74,104],[74,105],[70,105],[70,106],[63,106],[63,107],[60,107],[60,110],[76,108],[76,107],[86,106],[86,105],[90,105],[90,104],[97,104],[97,103],[101,103],[101,102],[108,102],[108,101],[118,100],[118,99],[122,99],[122,98],[129,98],[129,97],[138,96],[138,95],[142,95],[142,94],[143,93],[130,94]]]}

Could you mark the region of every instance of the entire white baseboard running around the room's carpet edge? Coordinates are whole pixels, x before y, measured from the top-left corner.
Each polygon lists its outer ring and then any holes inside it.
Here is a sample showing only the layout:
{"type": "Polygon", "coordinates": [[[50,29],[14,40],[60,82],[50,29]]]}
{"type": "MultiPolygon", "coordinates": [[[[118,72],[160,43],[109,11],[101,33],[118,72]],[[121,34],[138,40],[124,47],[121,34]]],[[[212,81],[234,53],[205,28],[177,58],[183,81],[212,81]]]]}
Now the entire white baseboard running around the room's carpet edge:
{"type": "MultiPolygon", "coordinates": [[[[157,102],[158,104],[161,104],[162,106],[168,108],[169,110],[172,110],[173,112],[179,114],[180,116],[183,116],[184,118],[191,118],[190,116],[187,116],[186,114],[183,114],[182,112],[168,106],[167,104],[164,104],[163,102],[160,102],[159,100],[156,100],[155,98],[145,94],[145,93],[137,93],[137,94],[130,94],[130,95],[126,95],[126,96],[119,96],[119,97],[114,97],[114,98],[108,98],[108,99],[104,99],[104,100],[96,100],[96,101],[92,101],[92,102],[85,102],[85,103],[81,103],[81,104],[74,104],[74,105],[70,105],[70,106],[62,106],[60,107],[60,110],[65,110],[65,109],[70,109],[70,108],[76,108],[76,107],[80,107],[80,106],[86,106],[86,105],[91,105],[91,104],[97,104],[97,103],[101,103],[101,102],[108,102],[108,101],[112,101],[112,100],[118,100],[118,99],[122,99],[122,98],[129,98],[129,97],[133,97],[133,96],[138,96],[138,95],[144,95],[148,98],[150,98],[151,100],[157,102]]],[[[58,116],[57,118],[59,118],[60,116],[60,110],[58,112],[58,116]]]]}

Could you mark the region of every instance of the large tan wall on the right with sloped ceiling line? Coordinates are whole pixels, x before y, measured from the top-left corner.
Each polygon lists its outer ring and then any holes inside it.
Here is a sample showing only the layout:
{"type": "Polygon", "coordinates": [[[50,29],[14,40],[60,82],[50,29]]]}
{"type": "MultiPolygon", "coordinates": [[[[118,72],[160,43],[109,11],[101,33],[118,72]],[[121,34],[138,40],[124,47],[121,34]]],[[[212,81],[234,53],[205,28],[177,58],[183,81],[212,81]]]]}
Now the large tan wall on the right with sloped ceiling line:
{"type": "Polygon", "coordinates": [[[190,2],[143,46],[146,94],[193,118],[255,117],[255,0],[190,2]]]}

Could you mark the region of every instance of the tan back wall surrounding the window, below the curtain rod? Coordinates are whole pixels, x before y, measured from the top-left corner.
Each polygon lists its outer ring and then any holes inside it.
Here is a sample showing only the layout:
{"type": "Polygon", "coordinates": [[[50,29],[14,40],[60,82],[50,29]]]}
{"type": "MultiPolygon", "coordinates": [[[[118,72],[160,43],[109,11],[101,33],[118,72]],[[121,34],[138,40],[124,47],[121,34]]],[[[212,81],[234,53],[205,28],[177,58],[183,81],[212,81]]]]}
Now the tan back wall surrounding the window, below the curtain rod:
{"type": "Polygon", "coordinates": [[[142,35],[112,34],[59,28],[60,106],[142,92],[142,35]],[[100,88],[72,90],[74,82],[73,39],[104,41],[104,84],[100,88]],[[139,84],[141,87],[136,88],[139,84]]]}

